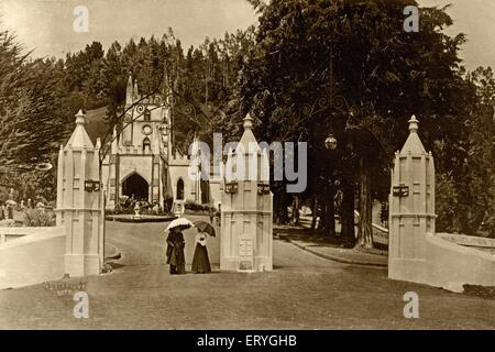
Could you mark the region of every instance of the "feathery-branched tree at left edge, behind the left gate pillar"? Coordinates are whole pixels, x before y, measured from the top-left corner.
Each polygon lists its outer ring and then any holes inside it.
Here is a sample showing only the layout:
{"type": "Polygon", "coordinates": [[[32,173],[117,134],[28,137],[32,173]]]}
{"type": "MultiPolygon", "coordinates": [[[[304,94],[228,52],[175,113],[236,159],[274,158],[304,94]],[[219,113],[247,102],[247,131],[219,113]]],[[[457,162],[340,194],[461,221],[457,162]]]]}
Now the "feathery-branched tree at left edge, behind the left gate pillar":
{"type": "Polygon", "coordinates": [[[20,197],[54,198],[55,173],[38,172],[54,163],[68,136],[74,106],[67,96],[64,63],[33,59],[9,32],[0,32],[0,184],[20,197]]]}

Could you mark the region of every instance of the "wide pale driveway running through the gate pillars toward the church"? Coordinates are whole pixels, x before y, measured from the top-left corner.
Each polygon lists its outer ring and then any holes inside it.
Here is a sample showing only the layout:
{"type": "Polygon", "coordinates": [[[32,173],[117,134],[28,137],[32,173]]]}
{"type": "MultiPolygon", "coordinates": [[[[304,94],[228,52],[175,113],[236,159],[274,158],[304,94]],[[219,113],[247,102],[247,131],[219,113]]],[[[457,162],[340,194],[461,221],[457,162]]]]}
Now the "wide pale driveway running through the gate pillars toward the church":
{"type": "MultiPolygon", "coordinates": [[[[389,280],[386,270],[331,262],[279,240],[273,272],[220,273],[218,239],[210,239],[212,274],[170,276],[163,228],[108,223],[123,257],[112,273],[86,278],[89,319],[74,318],[72,296],[35,285],[0,292],[0,328],[495,329],[495,300],[389,280]],[[406,292],[419,295],[419,319],[403,316],[406,292]]],[[[194,231],[185,233],[189,264],[194,231]]]]}

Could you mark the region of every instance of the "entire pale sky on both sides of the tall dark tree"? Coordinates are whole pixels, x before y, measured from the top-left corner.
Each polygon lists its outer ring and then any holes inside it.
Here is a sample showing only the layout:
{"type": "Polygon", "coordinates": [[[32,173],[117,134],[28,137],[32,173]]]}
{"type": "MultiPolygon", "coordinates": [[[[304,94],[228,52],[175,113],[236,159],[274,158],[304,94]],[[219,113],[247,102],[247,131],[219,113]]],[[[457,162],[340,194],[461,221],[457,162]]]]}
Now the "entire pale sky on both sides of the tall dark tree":
{"type": "MultiPolygon", "coordinates": [[[[418,0],[420,6],[452,3],[454,25],[447,33],[463,32],[469,42],[461,52],[468,69],[495,68],[495,0],[418,0]]],[[[118,40],[161,37],[169,26],[183,47],[199,45],[206,36],[256,24],[245,0],[0,0],[0,28],[13,31],[33,56],[64,57],[92,41],[108,48],[118,40]],[[73,29],[77,6],[89,12],[88,32],[73,29]]]]}

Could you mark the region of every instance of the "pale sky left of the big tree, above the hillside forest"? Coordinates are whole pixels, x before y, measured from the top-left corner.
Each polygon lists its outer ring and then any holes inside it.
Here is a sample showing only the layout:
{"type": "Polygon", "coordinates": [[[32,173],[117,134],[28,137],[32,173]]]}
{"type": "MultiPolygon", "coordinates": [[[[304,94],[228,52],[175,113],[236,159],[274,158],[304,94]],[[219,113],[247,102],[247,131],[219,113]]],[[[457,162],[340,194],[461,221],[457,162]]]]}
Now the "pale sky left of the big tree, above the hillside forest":
{"type": "Polygon", "coordinates": [[[245,0],[0,0],[0,28],[14,31],[33,56],[63,57],[99,41],[108,48],[116,40],[154,34],[170,26],[183,47],[199,45],[206,36],[256,24],[255,12],[245,0]],[[74,9],[88,9],[88,32],[75,32],[74,9]]]}

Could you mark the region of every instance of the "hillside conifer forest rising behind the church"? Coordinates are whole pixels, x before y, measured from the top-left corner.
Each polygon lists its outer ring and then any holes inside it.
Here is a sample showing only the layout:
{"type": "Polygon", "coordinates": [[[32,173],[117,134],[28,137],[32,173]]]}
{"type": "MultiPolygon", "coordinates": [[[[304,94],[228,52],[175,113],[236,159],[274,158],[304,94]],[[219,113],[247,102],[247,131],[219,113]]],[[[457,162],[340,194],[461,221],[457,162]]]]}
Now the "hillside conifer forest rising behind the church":
{"type": "Polygon", "coordinates": [[[232,130],[228,117],[238,114],[240,106],[233,92],[243,57],[253,45],[254,28],[226,33],[220,40],[207,37],[198,47],[187,50],[172,29],[160,40],[142,37],[125,45],[114,42],[107,53],[95,42],[67,55],[67,84],[84,108],[107,107],[110,125],[122,113],[130,75],[143,96],[174,94],[177,105],[191,105],[196,111],[174,110],[176,145],[187,150],[195,134],[211,140],[213,129],[232,130]]]}

